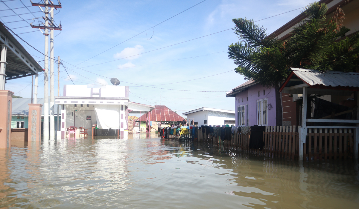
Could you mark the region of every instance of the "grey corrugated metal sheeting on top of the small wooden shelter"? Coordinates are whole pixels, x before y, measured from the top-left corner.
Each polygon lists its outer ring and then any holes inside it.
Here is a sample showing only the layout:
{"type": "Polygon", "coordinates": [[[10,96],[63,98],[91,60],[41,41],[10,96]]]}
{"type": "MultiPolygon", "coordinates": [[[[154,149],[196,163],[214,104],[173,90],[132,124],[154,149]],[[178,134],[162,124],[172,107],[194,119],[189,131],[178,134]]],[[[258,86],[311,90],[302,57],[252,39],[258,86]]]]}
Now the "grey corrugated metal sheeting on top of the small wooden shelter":
{"type": "Polygon", "coordinates": [[[323,85],[332,87],[359,87],[359,73],[356,72],[320,72],[318,70],[308,70],[300,68],[291,69],[293,70],[294,75],[306,82],[309,86],[323,85]]]}

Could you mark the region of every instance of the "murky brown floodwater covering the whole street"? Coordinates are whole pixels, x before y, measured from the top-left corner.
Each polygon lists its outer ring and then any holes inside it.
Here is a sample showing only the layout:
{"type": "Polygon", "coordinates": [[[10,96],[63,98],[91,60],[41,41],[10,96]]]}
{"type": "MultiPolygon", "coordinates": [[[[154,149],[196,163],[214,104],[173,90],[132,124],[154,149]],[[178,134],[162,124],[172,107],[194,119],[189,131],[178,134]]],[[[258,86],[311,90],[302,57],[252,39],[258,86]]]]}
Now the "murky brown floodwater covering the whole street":
{"type": "Polygon", "coordinates": [[[358,164],[299,165],[155,134],[12,142],[0,150],[0,208],[359,208],[358,164]]]}

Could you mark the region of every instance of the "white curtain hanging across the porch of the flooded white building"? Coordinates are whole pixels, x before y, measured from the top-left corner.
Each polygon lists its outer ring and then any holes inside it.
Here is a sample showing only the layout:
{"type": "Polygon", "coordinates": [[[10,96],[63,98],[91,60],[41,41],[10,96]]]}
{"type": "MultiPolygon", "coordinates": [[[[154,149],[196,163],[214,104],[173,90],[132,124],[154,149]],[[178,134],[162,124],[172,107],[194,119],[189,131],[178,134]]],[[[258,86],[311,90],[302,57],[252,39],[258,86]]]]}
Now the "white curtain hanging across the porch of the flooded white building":
{"type": "Polygon", "coordinates": [[[121,105],[94,105],[94,108],[98,128],[120,129],[121,105]]]}

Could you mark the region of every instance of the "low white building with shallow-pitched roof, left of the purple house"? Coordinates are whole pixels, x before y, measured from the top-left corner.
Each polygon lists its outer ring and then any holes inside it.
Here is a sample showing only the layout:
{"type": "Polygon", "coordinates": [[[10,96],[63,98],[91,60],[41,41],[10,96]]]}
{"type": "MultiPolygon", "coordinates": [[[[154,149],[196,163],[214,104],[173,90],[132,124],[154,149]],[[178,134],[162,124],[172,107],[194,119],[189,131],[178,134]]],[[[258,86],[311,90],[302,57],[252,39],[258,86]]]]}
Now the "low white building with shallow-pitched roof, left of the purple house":
{"type": "Polygon", "coordinates": [[[199,108],[183,113],[196,125],[235,125],[236,112],[232,110],[221,110],[215,108],[199,108]]]}

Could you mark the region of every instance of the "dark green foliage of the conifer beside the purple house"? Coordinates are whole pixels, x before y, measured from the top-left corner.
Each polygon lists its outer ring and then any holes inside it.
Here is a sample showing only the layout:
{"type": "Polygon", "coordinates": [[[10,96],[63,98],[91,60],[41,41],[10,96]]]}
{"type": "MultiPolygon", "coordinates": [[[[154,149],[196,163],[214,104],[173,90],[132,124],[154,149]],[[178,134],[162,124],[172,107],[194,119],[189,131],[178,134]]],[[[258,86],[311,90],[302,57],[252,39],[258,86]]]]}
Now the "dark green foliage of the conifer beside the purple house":
{"type": "Polygon", "coordinates": [[[326,18],[327,10],[324,3],[306,7],[302,12],[306,19],[293,29],[288,41],[268,37],[266,29],[253,20],[233,19],[240,42],[228,46],[228,57],[238,65],[235,71],[270,88],[283,82],[290,67],[355,71],[359,34],[340,40],[349,31],[341,24],[344,13],[338,8],[334,17],[326,18]]]}

